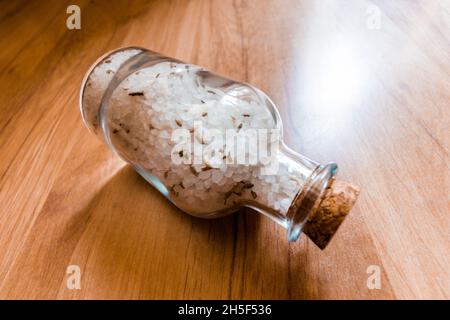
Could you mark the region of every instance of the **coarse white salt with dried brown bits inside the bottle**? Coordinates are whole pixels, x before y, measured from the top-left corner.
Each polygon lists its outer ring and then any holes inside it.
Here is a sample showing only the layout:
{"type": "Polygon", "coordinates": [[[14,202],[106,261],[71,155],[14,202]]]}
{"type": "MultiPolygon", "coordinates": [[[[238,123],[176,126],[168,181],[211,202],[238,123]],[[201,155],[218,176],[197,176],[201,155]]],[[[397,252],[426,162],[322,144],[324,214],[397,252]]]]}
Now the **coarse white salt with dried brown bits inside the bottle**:
{"type": "MultiPolygon", "coordinates": [[[[130,49],[113,53],[90,73],[84,88],[83,114],[96,134],[103,136],[99,107],[114,74],[140,52],[130,49]]],[[[278,170],[265,175],[261,168],[267,159],[253,164],[233,163],[240,156],[254,156],[255,148],[252,151],[246,146],[233,155],[225,152],[225,138],[220,143],[205,141],[204,133],[210,129],[223,137],[230,130],[239,137],[249,129],[279,129],[267,101],[239,83],[222,90],[208,78],[202,79],[204,72],[194,65],[161,61],[121,79],[104,110],[113,148],[147,172],[151,182],[159,181],[171,200],[191,214],[210,215],[257,201],[285,215],[305,183],[306,176],[300,170],[289,161],[278,161],[278,170]],[[196,123],[201,123],[198,130],[196,123]],[[214,155],[204,154],[200,164],[192,163],[192,147],[174,148],[172,138],[178,129],[187,130],[203,147],[210,146],[214,155]],[[174,157],[184,162],[174,163],[174,157]]],[[[264,147],[271,150],[275,142],[276,138],[268,137],[264,147]]]]}

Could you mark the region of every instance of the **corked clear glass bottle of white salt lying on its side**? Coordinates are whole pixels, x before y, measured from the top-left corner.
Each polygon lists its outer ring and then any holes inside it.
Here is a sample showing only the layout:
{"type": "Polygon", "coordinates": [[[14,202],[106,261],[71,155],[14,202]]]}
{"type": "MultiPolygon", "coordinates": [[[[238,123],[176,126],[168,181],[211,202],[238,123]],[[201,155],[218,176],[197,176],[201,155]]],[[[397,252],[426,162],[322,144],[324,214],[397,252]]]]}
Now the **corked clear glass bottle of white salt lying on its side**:
{"type": "Polygon", "coordinates": [[[129,47],[101,57],[81,86],[85,125],[186,213],[250,207],[325,248],[359,190],[290,150],[259,89],[129,47]]]}

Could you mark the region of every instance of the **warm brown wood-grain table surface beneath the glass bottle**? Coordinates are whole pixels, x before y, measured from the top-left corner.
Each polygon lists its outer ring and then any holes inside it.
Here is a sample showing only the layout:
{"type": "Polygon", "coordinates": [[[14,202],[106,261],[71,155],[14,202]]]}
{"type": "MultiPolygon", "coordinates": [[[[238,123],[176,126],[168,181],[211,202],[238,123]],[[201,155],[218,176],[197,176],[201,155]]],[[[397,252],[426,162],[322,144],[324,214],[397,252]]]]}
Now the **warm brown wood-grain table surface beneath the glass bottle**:
{"type": "Polygon", "coordinates": [[[450,1],[0,8],[0,298],[450,298],[450,1]],[[250,210],[192,218],[90,135],[84,73],[129,45],[261,88],[288,145],[362,187],[326,250],[250,210]]]}

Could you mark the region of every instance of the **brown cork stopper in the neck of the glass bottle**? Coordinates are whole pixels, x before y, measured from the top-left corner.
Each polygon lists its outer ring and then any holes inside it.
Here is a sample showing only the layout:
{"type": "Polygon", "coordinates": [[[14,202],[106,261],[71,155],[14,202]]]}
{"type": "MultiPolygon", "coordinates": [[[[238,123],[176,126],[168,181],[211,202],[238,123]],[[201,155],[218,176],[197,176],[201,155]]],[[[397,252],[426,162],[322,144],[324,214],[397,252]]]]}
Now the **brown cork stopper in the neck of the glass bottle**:
{"type": "Polygon", "coordinates": [[[359,188],[341,180],[334,180],[325,190],[317,210],[308,217],[303,232],[324,249],[356,202],[359,188]]]}

